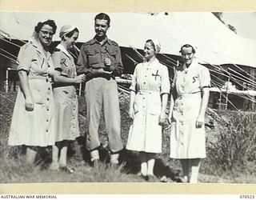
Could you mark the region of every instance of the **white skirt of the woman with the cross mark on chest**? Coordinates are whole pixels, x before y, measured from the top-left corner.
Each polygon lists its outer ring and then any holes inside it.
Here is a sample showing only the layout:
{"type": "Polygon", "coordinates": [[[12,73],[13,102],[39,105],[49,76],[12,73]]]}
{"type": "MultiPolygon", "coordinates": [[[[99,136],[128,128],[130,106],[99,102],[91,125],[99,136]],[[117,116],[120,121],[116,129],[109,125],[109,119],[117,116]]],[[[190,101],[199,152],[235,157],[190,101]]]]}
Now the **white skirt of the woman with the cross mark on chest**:
{"type": "Polygon", "coordinates": [[[159,91],[140,90],[134,100],[134,122],[130,126],[127,150],[162,152],[162,126],[159,126],[159,91]]]}

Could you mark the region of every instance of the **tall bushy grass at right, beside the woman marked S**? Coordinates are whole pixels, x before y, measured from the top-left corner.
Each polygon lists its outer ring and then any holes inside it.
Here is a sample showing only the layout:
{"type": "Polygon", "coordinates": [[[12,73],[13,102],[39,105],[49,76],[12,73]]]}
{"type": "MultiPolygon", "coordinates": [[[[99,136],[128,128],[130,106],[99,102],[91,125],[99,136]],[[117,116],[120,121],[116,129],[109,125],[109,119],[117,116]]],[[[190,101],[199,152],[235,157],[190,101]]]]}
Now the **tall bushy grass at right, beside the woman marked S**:
{"type": "Polygon", "coordinates": [[[219,127],[217,142],[207,146],[211,164],[222,170],[242,170],[256,162],[255,122],[255,113],[230,111],[228,121],[219,127]]]}

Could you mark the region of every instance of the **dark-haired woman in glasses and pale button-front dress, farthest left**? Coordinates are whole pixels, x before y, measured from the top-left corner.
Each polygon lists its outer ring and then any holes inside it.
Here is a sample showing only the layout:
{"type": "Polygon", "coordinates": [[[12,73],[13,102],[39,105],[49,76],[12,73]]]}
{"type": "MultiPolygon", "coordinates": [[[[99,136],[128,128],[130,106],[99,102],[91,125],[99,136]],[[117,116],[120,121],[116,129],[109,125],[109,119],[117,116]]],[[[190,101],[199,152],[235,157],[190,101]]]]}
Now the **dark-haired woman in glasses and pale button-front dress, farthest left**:
{"type": "Polygon", "coordinates": [[[14,106],[8,144],[25,145],[26,161],[33,163],[38,147],[54,145],[54,98],[51,75],[54,65],[48,47],[57,26],[38,22],[30,42],[18,54],[20,88],[14,106]]]}

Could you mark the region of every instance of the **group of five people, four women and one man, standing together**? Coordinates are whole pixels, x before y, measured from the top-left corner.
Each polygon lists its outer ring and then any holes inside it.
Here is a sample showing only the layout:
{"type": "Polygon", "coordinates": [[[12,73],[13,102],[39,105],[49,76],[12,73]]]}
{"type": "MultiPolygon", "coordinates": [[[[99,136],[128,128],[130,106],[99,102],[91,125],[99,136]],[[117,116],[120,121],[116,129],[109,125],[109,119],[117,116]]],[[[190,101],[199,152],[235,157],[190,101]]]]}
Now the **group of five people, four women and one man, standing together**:
{"type": "MultiPolygon", "coordinates": [[[[75,85],[86,82],[86,149],[94,167],[99,163],[98,127],[104,110],[111,166],[118,165],[124,146],[120,137],[121,119],[115,76],[122,74],[121,51],[106,36],[110,17],[94,18],[95,36],[85,42],[75,65],[70,50],[78,39],[76,26],[62,26],[60,44],[50,54],[49,46],[57,26],[53,20],[39,22],[33,37],[18,54],[20,88],[10,126],[9,145],[26,146],[26,161],[33,163],[42,147],[52,146],[51,170],[73,173],[67,165],[70,141],[79,133],[78,98],[75,85]],[[78,75],[80,74],[80,75],[78,75]]],[[[154,180],[156,154],[162,152],[162,125],[170,122],[170,158],[180,159],[184,182],[197,182],[202,158],[206,157],[204,115],[209,98],[210,73],[194,58],[195,48],[181,47],[183,64],[174,70],[170,94],[167,67],[156,55],[161,45],[150,38],[144,46],[144,61],[134,70],[130,86],[130,126],[127,150],[139,152],[138,174],[154,180]],[[170,97],[169,115],[166,114],[170,97]]]]}

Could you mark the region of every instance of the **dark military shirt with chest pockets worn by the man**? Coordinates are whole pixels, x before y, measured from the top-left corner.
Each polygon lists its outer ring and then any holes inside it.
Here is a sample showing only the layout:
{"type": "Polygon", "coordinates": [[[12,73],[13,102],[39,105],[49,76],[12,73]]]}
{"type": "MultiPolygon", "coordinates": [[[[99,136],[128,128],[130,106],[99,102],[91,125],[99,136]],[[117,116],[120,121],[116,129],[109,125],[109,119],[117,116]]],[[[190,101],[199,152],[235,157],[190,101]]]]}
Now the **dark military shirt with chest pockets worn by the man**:
{"type": "Polygon", "coordinates": [[[93,38],[82,45],[78,57],[77,72],[88,74],[90,69],[104,69],[106,68],[104,64],[105,58],[110,58],[111,66],[114,66],[112,74],[120,76],[123,70],[121,51],[118,43],[109,38],[106,38],[103,44],[93,38]]]}

